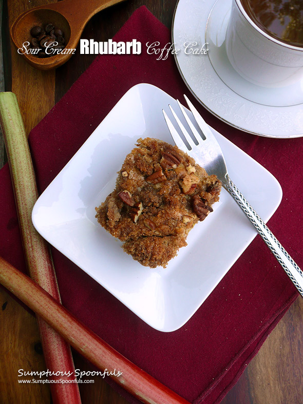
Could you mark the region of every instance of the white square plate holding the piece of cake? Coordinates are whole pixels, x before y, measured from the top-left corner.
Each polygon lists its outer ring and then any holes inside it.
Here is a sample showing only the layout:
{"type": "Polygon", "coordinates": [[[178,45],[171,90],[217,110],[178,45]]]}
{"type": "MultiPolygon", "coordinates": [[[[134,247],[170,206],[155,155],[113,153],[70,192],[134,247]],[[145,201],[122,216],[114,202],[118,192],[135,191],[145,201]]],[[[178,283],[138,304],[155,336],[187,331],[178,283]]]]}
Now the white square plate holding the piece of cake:
{"type": "MultiPolygon", "coordinates": [[[[115,187],[125,156],[142,137],[173,143],[163,118],[176,101],[150,84],[132,87],[37,200],[32,220],[61,253],[153,328],[174,331],[196,312],[256,236],[254,227],[222,189],[214,212],[199,222],[167,267],[150,269],[123,252],[97,222],[94,208],[115,187]]],[[[214,131],[230,176],[267,221],[282,192],[255,160],[214,131]]]]}

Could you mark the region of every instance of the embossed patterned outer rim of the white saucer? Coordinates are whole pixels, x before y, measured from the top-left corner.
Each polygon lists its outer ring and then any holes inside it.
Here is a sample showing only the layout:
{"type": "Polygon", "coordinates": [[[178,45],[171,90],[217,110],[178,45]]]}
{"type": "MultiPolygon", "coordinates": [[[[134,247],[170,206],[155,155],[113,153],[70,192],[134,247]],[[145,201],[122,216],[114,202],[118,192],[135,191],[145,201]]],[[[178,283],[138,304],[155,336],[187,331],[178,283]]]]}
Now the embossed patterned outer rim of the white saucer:
{"type": "Polygon", "coordinates": [[[206,42],[207,20],[215,3],[179,0],[177,4],[172,41],[180,49],[175,57],[185,84],[205,108],[231,126],[272,138],[302,137],[302,104],[270,106],[245,99],[220,79],[208,55],[185,54],[184,43],[195,41],[202,46],[206,42]]]}

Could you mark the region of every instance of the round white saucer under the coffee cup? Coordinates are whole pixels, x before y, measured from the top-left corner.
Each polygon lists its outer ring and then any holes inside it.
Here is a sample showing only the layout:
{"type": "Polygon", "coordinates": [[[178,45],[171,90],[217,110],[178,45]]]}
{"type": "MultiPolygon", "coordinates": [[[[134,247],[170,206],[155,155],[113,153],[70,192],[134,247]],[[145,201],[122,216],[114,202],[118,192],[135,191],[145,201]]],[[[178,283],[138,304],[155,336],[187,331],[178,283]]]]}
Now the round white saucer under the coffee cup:
{"type": "Polygon", "coordinates": [[[179,0],[173,43],[185,84],[205,108],[238,129],[272,138],[303,136],[303,83],[261,87],[231,66],[224,46],[230,8],[231,0],[179,0]],[[209,52],[185,54],[188,42],[208,43],[209,52]]]}

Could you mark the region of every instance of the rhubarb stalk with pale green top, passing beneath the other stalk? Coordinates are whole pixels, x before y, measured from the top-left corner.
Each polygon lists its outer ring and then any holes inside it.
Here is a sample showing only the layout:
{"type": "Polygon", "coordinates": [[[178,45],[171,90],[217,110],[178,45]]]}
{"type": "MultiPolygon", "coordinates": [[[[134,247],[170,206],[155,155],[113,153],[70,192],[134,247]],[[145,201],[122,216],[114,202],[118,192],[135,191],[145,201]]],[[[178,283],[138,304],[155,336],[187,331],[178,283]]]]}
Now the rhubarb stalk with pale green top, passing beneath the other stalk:
{"type": "MultiPolygon", "coordinates": [[[[16,96],[12,92],[0,93],[0,123],[29,274],[60,302],[48,245],[36,232],[31,221],[31,211],[38,197],[37,186],[23,120],[16,96]]],[[[38,317],[37,321],[47,369],[53,372],[74,372],[69,345],[41,318],[38,317]]],[[[52,383],[50,386],[54,403],[81,402],[77,383],[52,383]]]]}

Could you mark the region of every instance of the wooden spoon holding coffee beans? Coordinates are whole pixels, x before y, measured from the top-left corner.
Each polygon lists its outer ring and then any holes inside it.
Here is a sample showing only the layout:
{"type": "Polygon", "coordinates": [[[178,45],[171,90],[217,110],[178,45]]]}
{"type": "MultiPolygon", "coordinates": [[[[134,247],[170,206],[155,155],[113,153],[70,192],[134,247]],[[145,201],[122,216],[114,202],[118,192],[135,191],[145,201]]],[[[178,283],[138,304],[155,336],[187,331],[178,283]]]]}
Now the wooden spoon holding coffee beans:
{"type": "MultiPolygon", "coordinates": [[[[83,29],[90,18],[106,7],[124,0],[63,0],[45,6],[34,7],[19,15],[11,27],[11,37],[17,48],[23,48],[25,42],[31,41],[30,30],[36,25],[52,24],[65,33],[65,48],[75,49],[83,29]]],[[[30,47],[28,47],[30,49],[30,47]]],[[[20,52],[24,52],[25,48],[20,52]]],[[[41,59],[32,54],[22,53],[27,62],[41,70],[53,69],[63,65],[71,52],[57,54],[41,59]]]]}

